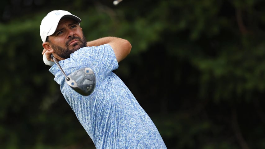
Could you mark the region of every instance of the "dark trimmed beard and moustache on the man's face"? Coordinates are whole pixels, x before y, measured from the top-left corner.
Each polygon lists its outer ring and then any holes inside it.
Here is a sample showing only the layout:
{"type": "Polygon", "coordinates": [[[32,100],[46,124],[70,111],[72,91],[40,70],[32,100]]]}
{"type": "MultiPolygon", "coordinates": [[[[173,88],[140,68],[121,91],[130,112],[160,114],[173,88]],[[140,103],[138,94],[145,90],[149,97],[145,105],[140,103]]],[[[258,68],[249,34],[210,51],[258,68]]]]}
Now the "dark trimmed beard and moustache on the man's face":
{"type": "Polygon", "coordinates": [[[87,40],[83,34],[83,39],[80,37],[72,36],[66,43],[65,43],[65,48],[61,46],[57,46],[56,44],[48,41],[51,44],[51,47],[53,48],[54,52],[60,56],[61,58],[69,58],[70,54],[74,53],[75,51],[79,50],[82,47],[87,46],[87,40]],[[74,43],[72,46],[73,48],[70,49],[69,47],[69,42],[71,42],[73,39],[78,39],[80,42],[74,43]]]}

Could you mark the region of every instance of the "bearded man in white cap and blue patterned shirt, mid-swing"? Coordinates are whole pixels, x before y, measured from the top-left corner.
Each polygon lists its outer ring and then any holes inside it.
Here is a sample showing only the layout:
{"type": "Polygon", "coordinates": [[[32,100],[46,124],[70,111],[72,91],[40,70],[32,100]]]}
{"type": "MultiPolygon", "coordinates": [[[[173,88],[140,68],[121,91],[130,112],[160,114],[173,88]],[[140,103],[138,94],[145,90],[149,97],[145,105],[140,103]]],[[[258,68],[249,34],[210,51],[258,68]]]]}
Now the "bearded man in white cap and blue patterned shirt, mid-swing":
{"type": "Polygon", "coordinates": [[[96,86],[89,96],[82,96],[65,83],[56,65],[50,72],[61,85],[65,100],[97,148],[166,148],[155,124],[130,90],[112,70],[118,68],[131,50],[121,38],[104,37],[86,42],[81,20],[68,11],[51,11],[42,20],[40,36],[43,54],[58,59],[66,75],[90,67],[96,86]]]}

